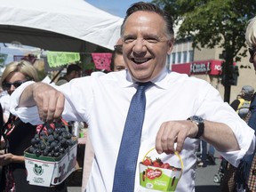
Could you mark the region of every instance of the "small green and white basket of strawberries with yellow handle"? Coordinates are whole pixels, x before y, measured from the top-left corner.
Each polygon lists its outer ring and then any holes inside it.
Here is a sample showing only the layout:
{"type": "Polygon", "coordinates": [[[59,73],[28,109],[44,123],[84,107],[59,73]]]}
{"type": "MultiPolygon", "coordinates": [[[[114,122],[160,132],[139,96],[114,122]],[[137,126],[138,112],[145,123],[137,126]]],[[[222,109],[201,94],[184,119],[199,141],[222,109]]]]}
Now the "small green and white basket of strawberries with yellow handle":
{"type": "Polygon", "coordinates": [[[150,149],[144,156],[142,162],[140,162],[140,186],[143,188],[153,189],[154,191],[175,191],[184,166],[179,153],[176,151],[174,152],[174,155],[176,155],[180,160],[180,167],[175,167],[172,166],[172,162],[170,162],[170,164],[162,162],[159,157],[156,157],[155,162],[151,162],[152,164],[148,164],[151,161],[151,157],[148,155],[152,151],[156,152],[155,148],[150,149]],[[150,159],[147,165],[145,165],[146,158],[150,159]]]}

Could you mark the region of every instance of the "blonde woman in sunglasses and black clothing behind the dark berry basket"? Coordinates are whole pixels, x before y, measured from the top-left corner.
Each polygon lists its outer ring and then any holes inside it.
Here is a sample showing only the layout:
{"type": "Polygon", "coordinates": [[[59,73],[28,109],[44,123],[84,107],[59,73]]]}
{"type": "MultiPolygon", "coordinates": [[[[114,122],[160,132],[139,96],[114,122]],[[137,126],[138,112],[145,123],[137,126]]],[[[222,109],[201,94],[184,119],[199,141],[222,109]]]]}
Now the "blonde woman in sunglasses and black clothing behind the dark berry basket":
{"type": "MultiPolygon", "coordinates": [[[[14,90],[29,80],[38,81],[36,68],[28,61],[14,61],[6,66],[1,84],[10,95],[14,90]]],[[[68,191],[65,183],[54,188],[29,185],[23,152],[31,145],[31,139],[36,134],[36,125],[25,124],[16,116],[10,114],[8,122],[2,130],[5,140],[4,154],[0,154],[0,166],[3,166],[0,192],[49,192],[68,191]]]]}

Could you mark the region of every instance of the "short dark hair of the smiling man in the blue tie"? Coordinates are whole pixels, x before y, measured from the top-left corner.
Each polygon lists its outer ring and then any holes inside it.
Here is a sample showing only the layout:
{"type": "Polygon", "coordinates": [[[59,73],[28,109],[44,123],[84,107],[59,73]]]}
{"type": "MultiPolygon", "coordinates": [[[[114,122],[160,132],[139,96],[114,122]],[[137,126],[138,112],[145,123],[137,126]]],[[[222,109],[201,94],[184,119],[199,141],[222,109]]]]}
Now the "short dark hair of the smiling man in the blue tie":
{"type": "Polygon", "coordinates": [[[172,25],[173,25],[172,16],[168,12],[161,10],[158,6],[156,6],[156,4],[145,3],[145,2],[138,2],[138,3],[132,4],[130,6],[130,8],[126,11],[126,16],[125,16],[124,22],[121,26],[121,36],[124,34],[124,24],[125,24],[127,18],[133,12],[139,12],[139,11],[156,12],[157,14],[162,16],[166,23],[167,36],[169,36],[170,38],[172,38],[174,36],[174,31],[172,28],[172,25]]]}

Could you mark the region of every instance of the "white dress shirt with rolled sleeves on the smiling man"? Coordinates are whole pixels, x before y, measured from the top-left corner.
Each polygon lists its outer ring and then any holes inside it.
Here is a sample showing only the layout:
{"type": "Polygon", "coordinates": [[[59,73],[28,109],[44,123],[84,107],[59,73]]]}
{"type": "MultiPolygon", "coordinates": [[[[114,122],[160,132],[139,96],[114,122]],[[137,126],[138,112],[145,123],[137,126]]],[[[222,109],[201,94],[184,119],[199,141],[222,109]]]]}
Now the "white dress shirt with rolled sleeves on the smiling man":
{"type": "MultiPolygon", "coordinates": [[[[211,84],[195,77],[167,71],[167,69],[164,69],[152,82],[154,86],[146,91],[146,114],[140,140],[134,191],[146,191],[140,187],[139,163],[148,150],[155,147],[156,133],[160,125],[166,121],[202,116],[205,120],[228,124],[236,135],[241,149],[228,153],[220,152],[220,155],[236,166],[246,151],[254,148],[254,131],[237,116],[228,103],[223,102],[220,93],[211,84]]],[[[20,116],[22,121],[41,123],[36,107],[17,108],[20,92],[26,84],[30,83],[22,84],[12,93],[11,112],[20,116]]],[[[124,70],[108,74],[95,72],[92,76],[76,78],[56,89],[66,96],[63,118],[84,121],[89,125],[88,133],[95,157],[87,192],[112,191],[118,149],[130,101],[136,92],[136,84],[124,70]]],[[[180,153],[184,170],[176,191],[195,191],[198,141],[189,138],[185,140],[180,153]]],[[[180,166],[177,156],[164,156],[163,161],[180,166]]],[[[129,182],[129,178],[127,181],[129,182]]]]}

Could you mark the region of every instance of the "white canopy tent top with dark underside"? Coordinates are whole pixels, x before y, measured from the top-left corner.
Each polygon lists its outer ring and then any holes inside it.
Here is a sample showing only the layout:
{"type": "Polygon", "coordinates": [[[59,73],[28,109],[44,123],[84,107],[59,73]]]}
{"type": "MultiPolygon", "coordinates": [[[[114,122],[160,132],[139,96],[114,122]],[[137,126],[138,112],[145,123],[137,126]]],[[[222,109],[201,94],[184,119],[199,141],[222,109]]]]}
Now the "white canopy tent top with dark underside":
{"type": "Polygon", "coordinates": [[[1,0],[0,42],[59,52],[113,50],[123,19],[84,0],[1,0]]]}

